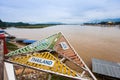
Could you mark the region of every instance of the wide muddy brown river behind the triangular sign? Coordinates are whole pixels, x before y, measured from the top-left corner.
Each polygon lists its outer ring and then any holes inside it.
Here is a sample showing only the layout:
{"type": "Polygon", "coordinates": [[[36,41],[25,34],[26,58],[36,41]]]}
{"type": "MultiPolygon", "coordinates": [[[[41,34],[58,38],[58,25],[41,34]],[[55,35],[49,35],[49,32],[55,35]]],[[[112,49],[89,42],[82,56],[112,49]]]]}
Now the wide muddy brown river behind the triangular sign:
{"type": "Polygon", "coordinates": [[[41,29],[9,28],[6,31],[17,38],[33,40],[62,32],[90,68],[92,58],[120,63],[119,27],[58,25],[41,29]]]}

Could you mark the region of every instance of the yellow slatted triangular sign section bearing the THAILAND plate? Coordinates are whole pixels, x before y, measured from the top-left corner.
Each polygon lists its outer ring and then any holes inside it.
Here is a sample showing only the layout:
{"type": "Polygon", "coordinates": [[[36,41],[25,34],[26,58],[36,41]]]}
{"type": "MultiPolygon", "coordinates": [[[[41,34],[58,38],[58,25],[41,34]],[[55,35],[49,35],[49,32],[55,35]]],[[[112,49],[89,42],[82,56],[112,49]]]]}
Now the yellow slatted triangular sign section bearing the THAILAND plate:
{"type": "Polygon", "coordinates": [[[20,56],[7,61],[18,65],[23,65],[33,69],[37,69],[57,75],[62,75],[74,79],[80,79],[80,80],[86,79],[86,78],[81,78],[76,71],[64,65],[62,62],[60,62],[59,59],[54,57],[49,52],[33,53],[31,55],[20,56]]]}

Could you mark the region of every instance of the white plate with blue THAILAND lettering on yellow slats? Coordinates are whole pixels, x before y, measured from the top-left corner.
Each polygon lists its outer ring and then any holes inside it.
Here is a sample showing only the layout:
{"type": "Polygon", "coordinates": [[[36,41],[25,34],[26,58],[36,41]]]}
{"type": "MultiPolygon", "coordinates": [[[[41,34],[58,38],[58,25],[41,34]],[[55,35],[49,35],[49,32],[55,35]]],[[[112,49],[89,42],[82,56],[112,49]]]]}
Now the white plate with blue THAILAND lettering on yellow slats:
{"type": "Polygon", "coordinates": [[[43,58],[39,58],[39,57],[31,57],[28,61],[32,62],[32,63],[36,63],[36,64],[50,66],[50,67],[53,67],[53,65],[55,63],[55,61],[53,61],[53,60],[43,59],[43,58]]]}

